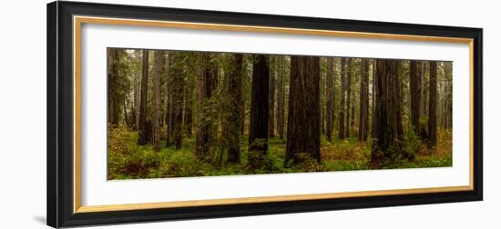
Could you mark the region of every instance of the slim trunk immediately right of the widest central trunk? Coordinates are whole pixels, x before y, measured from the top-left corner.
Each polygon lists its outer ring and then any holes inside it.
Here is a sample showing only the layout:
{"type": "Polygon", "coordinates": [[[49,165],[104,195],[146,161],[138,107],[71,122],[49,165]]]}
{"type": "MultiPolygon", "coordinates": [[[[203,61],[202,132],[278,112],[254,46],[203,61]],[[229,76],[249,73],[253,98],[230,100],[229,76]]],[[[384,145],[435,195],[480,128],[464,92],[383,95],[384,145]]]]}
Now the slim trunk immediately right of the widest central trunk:
{"type": "Polygon", "coordinates": [[[329,142],[332,142],[332,128],[334,127],[334,115],[333,115],[333,108],[334,108],[334,58],[327,58],[327,107],[325,111],[325,115],[327,118],[327,126],[325,128],[325,135],[327,136],[327,140],[329,142]]]}

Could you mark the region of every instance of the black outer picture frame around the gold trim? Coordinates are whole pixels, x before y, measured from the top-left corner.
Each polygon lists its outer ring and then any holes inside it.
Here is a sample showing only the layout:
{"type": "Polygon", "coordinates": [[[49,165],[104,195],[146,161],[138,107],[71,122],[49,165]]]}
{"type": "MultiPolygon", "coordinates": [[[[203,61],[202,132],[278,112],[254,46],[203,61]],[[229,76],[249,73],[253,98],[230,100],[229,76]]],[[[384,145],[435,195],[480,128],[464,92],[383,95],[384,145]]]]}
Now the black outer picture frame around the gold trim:
{"type": "Polygon", "coordinates": [[[482,29],[439,25],[414,25],[358,20],[259,15],[138,5],[53,2],[47,5],[47,224],[53,227],[118,224],[158,220],[285,214],[410,204],[481,201],[483,198],[483,85],[482,29]],[[73,15],[93,15],[147,20],[256,25],[471,38],[474,45],[474,167],[473,190],[425,194],[395,194],[281,201],[258,204],[220,204],[146,210],[74,213],[73,166],[73,15]]]}

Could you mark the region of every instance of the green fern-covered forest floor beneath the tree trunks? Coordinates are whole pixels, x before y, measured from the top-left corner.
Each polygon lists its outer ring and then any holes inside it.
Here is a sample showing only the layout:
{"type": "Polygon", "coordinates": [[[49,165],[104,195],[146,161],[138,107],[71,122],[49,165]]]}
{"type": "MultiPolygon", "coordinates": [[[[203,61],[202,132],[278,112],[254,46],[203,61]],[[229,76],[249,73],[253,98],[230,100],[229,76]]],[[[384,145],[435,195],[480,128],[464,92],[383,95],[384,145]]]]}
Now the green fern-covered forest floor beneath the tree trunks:
{"type": "MultiPolygon", "coordinates": [[[[428,151],[423,144],[417,145],[415,159],[398,159],[390,168],[422,168],[452,166],[452,137],[450,131],[438,132],[438,143],[435,151],[428,151]]],[[[109,131],[107,164],[107,179],[140,179],[186,176],[209,176],[230,174],[281,174],[305,173],[322,171],[352,171],[369,170],[371,159],[371,144],[359,143],[356,137],[344,140],[327,141],[322,136],[322,164],[306,160],[298,166],[283,167],[285,157],[285,140],[278,137],[269,139],[269,151],[261,170],[247,169],[248,139],[240,139],[240,164],[215,164],[202,162],[195,157],[195,134],[185,138],[182,147],[176,150],[174,146],[166,147],[161,141],[158,153],[149,144],[137,145],[138,133],[124,129],[109,131]]]]}

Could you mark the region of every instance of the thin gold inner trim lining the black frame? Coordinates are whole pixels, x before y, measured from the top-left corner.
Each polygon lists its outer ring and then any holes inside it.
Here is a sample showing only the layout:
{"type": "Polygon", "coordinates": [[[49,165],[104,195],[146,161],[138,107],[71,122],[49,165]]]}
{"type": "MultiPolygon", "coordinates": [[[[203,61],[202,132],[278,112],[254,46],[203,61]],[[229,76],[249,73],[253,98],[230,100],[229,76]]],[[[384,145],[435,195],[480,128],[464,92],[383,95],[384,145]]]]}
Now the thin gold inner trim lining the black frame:
{"type": "Polygon", "coordinates": [[[138,20],[124,18],[109,18],[109,17],[92,17],[92,16],[74,16],[73,17],[73,53],[74,53],[74,161],[73,161],[73,188],[74,188],[74,213],[93,213],[107,211],[126,211],[126,210],[142,210],[156,208],[172,208],[172,207],[187,207],[187,206],[206,206],[216,204],[255,204],[265,202],[284,202],[284,201],[299,201],[299,200],[318,200],[360,196],[377,196],[377,195],[394,195],[394,194],[428,194],[428,193],[445,193],[456,191],[471,191],[474,190],[474,45],[473,39],[443,37],[443,36],[425,36],[425,35],[394,35],[381,33],[364,33],[364,32],[348,32],[348,31],[332,31],[332,30],[316,30],[316,29],[298,29],[286,27],[269,27],[269,26],[253,26],[253,25],[226,25],[226,24],[205,24],[205,23],[187,23],[175,21],[154,21],[154,20],[138,20]],[[275,195],[275,196],[259,196],[259,197],[242,197],[242,198],[226,198],[226,199],[208,199],[208,200],[189,200],[189,201],[174,201],[174,202],[157,202],[157,203],[142,203],[142,204],[110,204],[110,205],[89,205],[82,206],[81,204],[81,28],[83,24],[97,25],[131,25],[131,26],[148,26],[148,27],[168,27],[168,28],[183,28],[183,29],[203,29],[203,30],[219,30],[232,32],[250,32],[250,33],[266,33],[266,34],[287,34],[287,35],[325,35],[350,38],[372,38],[372,39],[390,39],[390,40],[405,40],[419,42],[443,42],[469,45],[469,75],[470,75],[470,148],[469,148],[469,185],[465,186],[446,186],[433,188],[412,188],[412,189],[394,189],[394,190],[378,190],[378,191],[362,191],[362,192],[344,192],[331,194],[293,194],[293,195],[275,195]]]}

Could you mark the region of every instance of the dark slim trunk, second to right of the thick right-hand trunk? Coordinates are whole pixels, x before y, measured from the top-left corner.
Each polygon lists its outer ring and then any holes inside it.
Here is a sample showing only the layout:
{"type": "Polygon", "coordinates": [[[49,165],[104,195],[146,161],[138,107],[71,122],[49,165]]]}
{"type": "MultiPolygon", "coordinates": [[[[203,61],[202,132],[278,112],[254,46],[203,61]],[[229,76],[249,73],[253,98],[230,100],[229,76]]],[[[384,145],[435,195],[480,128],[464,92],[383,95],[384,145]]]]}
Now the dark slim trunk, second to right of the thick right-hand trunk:
{"type": "Polygon", "coordinates": [[[428,108],[428,148],[436,146],[436,61],[430,62],[430,102],[428,108]]]}

